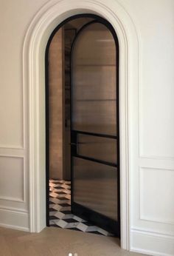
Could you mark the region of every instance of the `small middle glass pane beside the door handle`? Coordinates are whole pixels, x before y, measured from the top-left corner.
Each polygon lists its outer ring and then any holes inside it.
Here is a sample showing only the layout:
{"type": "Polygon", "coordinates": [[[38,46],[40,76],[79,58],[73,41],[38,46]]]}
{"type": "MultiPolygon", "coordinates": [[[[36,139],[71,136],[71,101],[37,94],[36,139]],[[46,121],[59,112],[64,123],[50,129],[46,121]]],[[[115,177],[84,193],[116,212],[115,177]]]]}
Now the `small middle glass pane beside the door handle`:
{"type": "Polygon", "coordinates": [[[77,135],[77,154],[116,164],[116,139],[77,135]]]}

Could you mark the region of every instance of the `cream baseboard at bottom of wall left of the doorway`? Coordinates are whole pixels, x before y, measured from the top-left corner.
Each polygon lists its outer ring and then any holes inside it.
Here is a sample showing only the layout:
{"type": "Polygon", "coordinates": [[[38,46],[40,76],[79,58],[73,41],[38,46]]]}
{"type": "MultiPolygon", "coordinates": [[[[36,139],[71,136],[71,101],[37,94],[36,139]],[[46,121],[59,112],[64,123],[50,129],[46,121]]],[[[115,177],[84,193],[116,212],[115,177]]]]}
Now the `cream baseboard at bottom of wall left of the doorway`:
{"type": "Polygon", "coordinates": [[[20,209],[17,211],[0,208],[0,226],[29,232],[29,214],[20,209]]]}

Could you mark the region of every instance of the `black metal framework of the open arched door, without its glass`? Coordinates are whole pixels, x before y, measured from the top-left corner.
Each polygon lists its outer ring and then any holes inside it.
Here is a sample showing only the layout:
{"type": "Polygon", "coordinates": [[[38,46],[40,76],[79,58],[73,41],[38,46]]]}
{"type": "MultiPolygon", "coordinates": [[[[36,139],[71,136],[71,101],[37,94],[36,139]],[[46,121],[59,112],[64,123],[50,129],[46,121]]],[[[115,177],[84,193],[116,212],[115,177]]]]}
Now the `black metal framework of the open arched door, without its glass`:
{"type": "Polygon", "coordinates": [[[100,133],[94,133],[94,132],[83,132],[83,131],[77,131],[72,129],[72,106],[73,106],[73,102],[72,102],[72,96],[71,96],[71,132],[72,132],[72,136],[71,136],[71,144],[72,144],[72,153],[71,153],[71,180],[72,180],[72,206],[74,206],[74,208],[76,208],[74,214],[77,215],[81,215],[82,217],[86,217],[88,220],[94,220],[95,223],[98,226],[104,227],[105,229],[108,229],[108,231],[113,232],[117,237],[120,237],[120,199],[119,199],[119,44],[118,44],[118,39],[116,37],[116,33],[114,31],[114,28],[111,26],[111,24],[108,23],[108,21],[106,21],[105,19],[101,18],[101,17],[96,17],[94,19],[94,21],[90,21],[87,24],[85,24],[83,27],[81,27],[81,29],[78,31],[77,35],[74,38],[74,42],[72,44],[72,53],[71,53],[71,95],[73,93],[73,84],[72,84],[72,54],[73,54],[73,50],[74,50],[74,46],[75,43],[77,41],[77,38],[80,36],[80,33],[83,32],[83,30],[86,29],[86,27],[88,27],[91,24],[95,24],[95,23],[100,23],[100,24],[104,24],[105,27],[108,28],[108,30],[110,30],[115,44],[116,44],[116,130],[117,130],[117,135],[105,135],[105,134],[100,134],[100,133]],[[85,135],[94,135],[94,136],[99,136],[99,137],[104,137],[104,138],[113,138],[116,140],[116,146],[117,146],[117,163],[111,163],[111,162],[107,162],[107,161],[101,161],[99,159],[96,158],[88,158],[84,155],[79,155],[77,153],[77,146],[78,146],[78,142],[77,142],[77,135],[78,134],[85,134],[85,135]],[[114,221],[111,220],[103,215],[101,215],[100,213],[94,212],[91,209],[86,208],[85,206],[81,206],[78,205],[78,203],[74,202],[74,168],[73,168],[73,157],[77,157],[77,158],[83,158],[86,159],[88,161],[94,161],[100,164],[106,164],[108,166],[114,166],[117,167],[117,173],[118,173],[118,179],[117,179],[117,186],[118,186],[118,221],[114,221]]]}

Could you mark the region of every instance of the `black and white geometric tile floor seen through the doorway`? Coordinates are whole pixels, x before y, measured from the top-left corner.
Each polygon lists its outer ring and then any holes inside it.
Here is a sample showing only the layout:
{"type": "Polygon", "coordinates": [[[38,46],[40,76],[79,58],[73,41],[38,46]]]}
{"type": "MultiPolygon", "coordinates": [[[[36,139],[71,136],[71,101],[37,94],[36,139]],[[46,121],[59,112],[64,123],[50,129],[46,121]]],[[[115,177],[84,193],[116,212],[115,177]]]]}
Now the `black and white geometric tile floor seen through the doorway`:
{"type": "Polygon", "coordinates": [[[49,180],[49,226],[112,236],[105,229],[72,214],[71,181],[49,180]]]}

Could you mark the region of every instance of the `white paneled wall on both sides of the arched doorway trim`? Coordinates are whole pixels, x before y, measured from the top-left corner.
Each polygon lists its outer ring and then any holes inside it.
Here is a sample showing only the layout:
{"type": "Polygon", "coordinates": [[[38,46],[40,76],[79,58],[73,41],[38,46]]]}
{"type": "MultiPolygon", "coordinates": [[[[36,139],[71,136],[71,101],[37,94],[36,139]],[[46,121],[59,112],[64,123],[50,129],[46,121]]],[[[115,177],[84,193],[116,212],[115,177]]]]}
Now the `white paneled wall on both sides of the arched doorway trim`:
{"type": "MultiPolygon", "coordinates": [[[[29,229],[28,93],[22,82],[22,47],[27,27],[44,3],[0,2],[0,224],[24,230],[29,229]]],[[[140,46],[139,152],[131,160],[130,249],[174,255],[174,1],[119,3],[133,19],[140,46]]]]}

